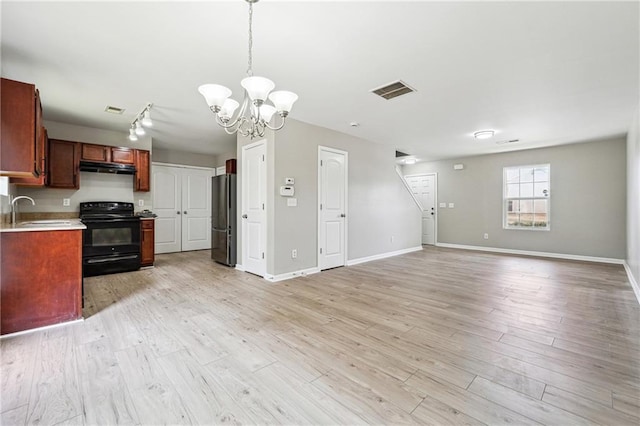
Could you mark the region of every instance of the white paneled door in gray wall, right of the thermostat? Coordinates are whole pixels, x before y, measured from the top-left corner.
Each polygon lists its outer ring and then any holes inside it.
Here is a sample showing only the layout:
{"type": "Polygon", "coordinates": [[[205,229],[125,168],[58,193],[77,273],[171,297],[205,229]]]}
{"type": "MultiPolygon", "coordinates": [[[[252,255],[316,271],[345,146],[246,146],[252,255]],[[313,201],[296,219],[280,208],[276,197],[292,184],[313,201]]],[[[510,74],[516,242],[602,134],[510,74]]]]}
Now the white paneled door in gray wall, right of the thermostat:
{"type": "Polygon", "coordinates": [[[318,267],[344,266],[347,260],[347,153],[319,148],[318,267]]]}

